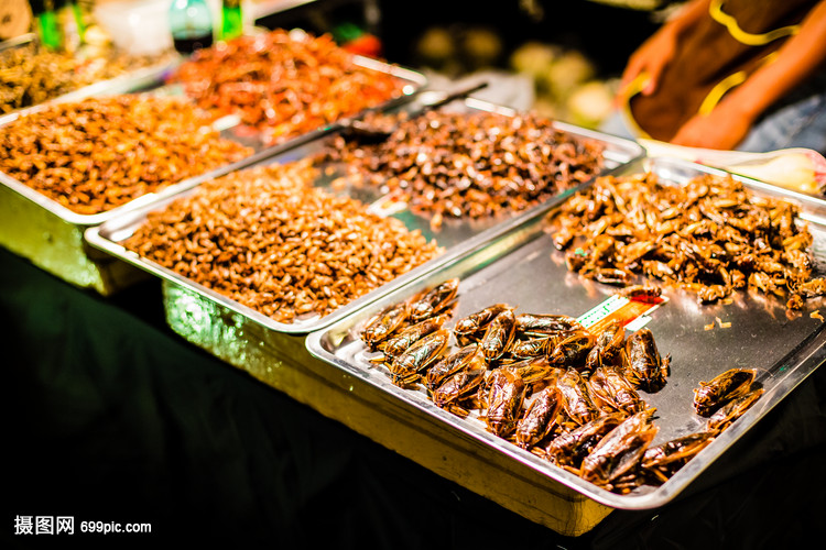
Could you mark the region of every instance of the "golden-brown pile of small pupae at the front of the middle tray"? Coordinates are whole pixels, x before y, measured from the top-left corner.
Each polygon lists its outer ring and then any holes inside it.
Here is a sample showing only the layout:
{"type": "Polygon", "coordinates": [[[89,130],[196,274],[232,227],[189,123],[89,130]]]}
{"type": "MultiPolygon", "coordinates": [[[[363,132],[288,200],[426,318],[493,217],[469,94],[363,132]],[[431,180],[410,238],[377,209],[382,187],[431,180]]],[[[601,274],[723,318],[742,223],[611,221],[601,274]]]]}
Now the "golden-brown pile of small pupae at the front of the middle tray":
{"type": "Polygon", "coordinates": [[[279,322],[329,315],[443,253],[316,176],[303,160],[205,182],[123,246],[279,322]]]}

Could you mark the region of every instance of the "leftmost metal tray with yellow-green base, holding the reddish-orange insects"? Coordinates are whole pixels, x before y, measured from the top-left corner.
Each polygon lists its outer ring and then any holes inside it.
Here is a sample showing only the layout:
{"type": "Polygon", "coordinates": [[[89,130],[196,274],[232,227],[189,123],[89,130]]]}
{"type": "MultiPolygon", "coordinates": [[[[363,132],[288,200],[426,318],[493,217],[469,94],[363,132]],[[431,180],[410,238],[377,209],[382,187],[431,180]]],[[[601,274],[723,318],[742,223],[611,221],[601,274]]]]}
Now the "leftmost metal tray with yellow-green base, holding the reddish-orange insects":
{"type": "MultiPolygon", "coordinates": [[[[426,78],[413,70],[361,57],[358,57],[356,63],[378,74],[398,78],[403,86],[402,96],[377,106],[376,109],[379,110],[403,103],[426,85],[426,78]]],[[[0,128],[11,124],[23,114],[36,113],[46,109],[48,105],[54,102],[72,102],[87,97],[134,94],[146,94],[153,97],[181,96],[183,91],[180,86],[167,84],[170,77],[175,73],[176,65],[177,62],[174,66],[124,75],[113,80],[98,82],[83,90],[77,90],[48,103],[9,113],[0,117],[0,128]]],[[[87,228],[117,218],[121,212],[138,208],[141,205],[162,200],[165,197],[197,186],[203,180],[298,146],[334,131],[337,125],[330,124],[319,128],[278,145],[264,143],[260,135],[250,132],[249,129],[241,128],[239,121],[231,116],[216,121],[214,128],[220,130],[221,138],[250,147],[252,154],[239,162],[163,187],[156,193],[146,194],[126,205],[100,213],[80,215],[74,212],[7,174],[0,173],[0,198],[2,198],[0,200],[0,205],[2,205],[0,207],[0,220],[2,220],[0,221],[0,244],[69,283],[95,289],[104,295],[112,294],[138,279],[144,278],[145,273],[113,258],[111,255],[101,254],[98,250],[89,248],[83,238],[87,228]]]]}

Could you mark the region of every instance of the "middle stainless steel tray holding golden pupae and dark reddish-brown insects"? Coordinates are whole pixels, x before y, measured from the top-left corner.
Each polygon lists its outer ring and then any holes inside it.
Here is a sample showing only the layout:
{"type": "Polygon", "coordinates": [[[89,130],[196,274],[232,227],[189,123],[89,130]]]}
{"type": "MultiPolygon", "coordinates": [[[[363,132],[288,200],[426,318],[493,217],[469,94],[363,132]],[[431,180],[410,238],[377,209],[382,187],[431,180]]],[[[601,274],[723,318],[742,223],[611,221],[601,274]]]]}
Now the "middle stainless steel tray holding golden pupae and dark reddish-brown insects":
{"type": "MultiPolygon", "coordinates": [[[[498,109],[493,105],[476,101],[474,99],[467,99],[465,101],[465,108],[475,110],[498,109]]],[[[508,112],[512,111],[508,110],[508,112]]],[[[558,124],[558,128],[561,131],[567,132],[572,136],[589,138],[604,143],[606,146],[606,169],[616,169],[617,166],[621,165],[621,163],[631,162],[632,160],[639,157],[642,152],[642,148],[637,143],[631,141],[616,139],[584,129],[577,129],[576,127],[572,127],[569,124],[558,124]]],[[[257,163],[256,165],[269,163],[287,163],[298,158],[304,158],[320,151],[323,146],[323,141],[314,141],[301,147],[293,148],[281,155],[267,158],[265,161],[257,163]]],[[[326,174],[325,176],[319,178],[315,183],[315,185],[317,187],[332,189],[333,182],[339,175],[340,174],[326,174]]],[[[120,244],[124,239],[130,237],[139,226],[144,222],[149,212],[162,209],[174,199],[188,196],[194,191],[194,188],[188,189],[187,191],[177,194],[174,197],[167,197],[163,200],[154,201],[151,205],[146,205],[141,208],[133,209],[129,212],[124,212],[123,215],[113,218],[102,223],[101,226],[89,228],[86,231],[86,240],[93,246],[98,248],[115,257],[131,263],[134,266],[145,270],[146,272],[161,277],[165,283],[170,285],[177,286],[191,293],[197,294],[208,300],[216,302],[216,305],[227,310],[239,314],[242,317],[265,327],[267,329],[290,334],[306,334],[337,321],[338,319],[349,315],[350,312],[377,300],[380,296],[391,292],[393,288],[413,282],[417,277],[421,277],[433,270],[437,270],[441,265],[461,256],[463,254],[472,250],[474,246],[476,246],[478,243],[485,242],[485,240],[488,239],[490,234],[498,234],[500,232],[508,231],[508,229],[512,224],[518,223],[518,220],[521,219],[522,216],[529,216],[530,212],[534,211],[544,211],[545,209],[552,207],[554,200],[562,200],[565,195],[573,193],[567,191],[567,194],[559,196],[556,199],[552,199],[544,205],[540,205],[533,210],[530,210],[521,216],[513,216],[511,218],[496,220],[449,220],[448,222],[445,222],[445,224],[438,232],[433,232],[431,230],[430,222],[424,217],[415,216],[406,210],[401,212],[393,212],[392,216],[401,219],[409,229],[417,229],[428,239],[435,239],[436,242],[445,249],[444,254],[434,260],[431,260],[430,262],[426,262],[423,265],[420,265],[409,273],[398,277],[395,280],[388,283],[382,287],[377,288],[347,305],[344,305],[328,316],[314,316],[305,319],[300,319],[293,323],[283,323],[278,322],[258,311],[254,311],[251,308],[242,306],[241,304],[229,299],[228,297],[222,296],[218,293],[215,293],[193,280],[182,277],[181,275],[172,272],[171,270],[162,267],[154,262],[142,258],[137,253],[128,251],[122,246],[122,244],[120,244]]],[[[345,195],[352,196],[365,204],[371,205],[370,208],[377,208],[378,205],[381,205],[381,195],[374,189],[368,189],[358,186],[351,186],[346,189],[340,189],[338,186],[336,186],[335,193],[343,193],[345,195]]]]}

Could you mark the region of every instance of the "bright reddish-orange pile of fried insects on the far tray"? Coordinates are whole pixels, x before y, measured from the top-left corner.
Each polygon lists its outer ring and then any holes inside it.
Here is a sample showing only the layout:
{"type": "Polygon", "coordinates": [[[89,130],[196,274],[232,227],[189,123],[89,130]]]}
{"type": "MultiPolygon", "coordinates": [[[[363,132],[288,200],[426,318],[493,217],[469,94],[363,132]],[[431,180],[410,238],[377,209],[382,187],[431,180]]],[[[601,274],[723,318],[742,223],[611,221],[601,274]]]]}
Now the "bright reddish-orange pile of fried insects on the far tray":
{"type": "Polygon", "coordinates": [[[198,51],[176,79],[198,107],[238,114],[283,143],[402,95],[404,81],[366,68],[333,36],[275,29],[198,51]]]}

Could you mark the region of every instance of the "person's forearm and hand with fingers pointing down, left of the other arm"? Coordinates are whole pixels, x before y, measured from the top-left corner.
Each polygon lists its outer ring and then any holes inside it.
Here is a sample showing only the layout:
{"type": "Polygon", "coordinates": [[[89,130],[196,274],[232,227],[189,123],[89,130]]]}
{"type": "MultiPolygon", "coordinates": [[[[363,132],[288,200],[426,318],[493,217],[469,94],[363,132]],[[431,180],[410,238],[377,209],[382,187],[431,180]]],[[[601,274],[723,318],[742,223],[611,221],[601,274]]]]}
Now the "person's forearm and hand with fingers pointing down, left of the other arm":
{"type": "Polygon", "coordinates": [[[710,0],[692,0],[631,54],[622,73],[619,99],[624,97],[628,86],[641,75],[645,77],[642,95],[654,92],[660,74],[674,57],[680,36],[691,32],[702,18],[708,16],[709,3],[710,0]]]}

